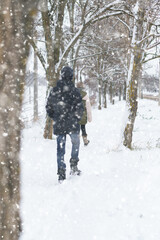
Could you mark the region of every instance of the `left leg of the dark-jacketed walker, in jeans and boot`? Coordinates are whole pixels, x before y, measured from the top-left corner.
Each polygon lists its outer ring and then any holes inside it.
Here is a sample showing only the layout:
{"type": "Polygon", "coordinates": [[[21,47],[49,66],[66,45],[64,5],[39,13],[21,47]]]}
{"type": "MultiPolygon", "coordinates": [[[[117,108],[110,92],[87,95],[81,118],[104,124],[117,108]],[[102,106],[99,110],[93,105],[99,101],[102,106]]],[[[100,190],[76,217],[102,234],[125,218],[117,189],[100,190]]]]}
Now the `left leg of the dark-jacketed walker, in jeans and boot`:
{"type": "Polygon", "coordinates": [[[58,165],[58,175],[59,180],[65,179],[65,171],[66,164],[64,162],[64,154],[65,154],[65,145],[66,145],[66,135],[58,135],[57,136],[57,165],[58,165]]]}

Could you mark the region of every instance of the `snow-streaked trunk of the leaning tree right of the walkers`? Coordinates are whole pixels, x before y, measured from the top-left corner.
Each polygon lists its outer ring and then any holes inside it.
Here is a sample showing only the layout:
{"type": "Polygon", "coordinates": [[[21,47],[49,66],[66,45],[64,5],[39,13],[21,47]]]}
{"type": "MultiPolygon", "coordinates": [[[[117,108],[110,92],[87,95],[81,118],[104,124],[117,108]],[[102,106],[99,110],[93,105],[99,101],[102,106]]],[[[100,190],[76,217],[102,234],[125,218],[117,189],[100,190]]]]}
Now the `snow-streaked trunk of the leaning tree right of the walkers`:
{"type": "Polygon", "coordinates": [[[144,2],[137,1],[137,8],[135,12],[133,37],[132,37],[132,51],[130,58],[130,67],[128,71],[128,86],[127,86],[127,107],[128,107],[128,120],[124,130],[124,146],[131,149],[132,133],[134,128],[134,122],[137,114],[138,102],[138,82],[142,71],[142,55],[143,47],[142,42],[138,41],[143,36],[144,26],[144,2]],[[142,4],[142,5],[140,5],[142,4]]]}

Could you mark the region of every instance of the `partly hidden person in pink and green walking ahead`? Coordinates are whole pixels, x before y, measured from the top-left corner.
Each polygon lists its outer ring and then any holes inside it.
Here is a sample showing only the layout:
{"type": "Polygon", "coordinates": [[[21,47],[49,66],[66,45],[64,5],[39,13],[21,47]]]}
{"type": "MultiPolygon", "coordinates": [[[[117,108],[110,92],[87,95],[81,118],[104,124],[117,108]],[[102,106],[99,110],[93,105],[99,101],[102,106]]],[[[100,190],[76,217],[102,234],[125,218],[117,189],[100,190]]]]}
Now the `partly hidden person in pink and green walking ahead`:
{"type": "Polygon", "coordinates": [[[83,116],[79,123],[81,126],[82,138],[83,138],[84,145],[87,146],[89,143],[89,140],[87,139],[86,124],[87,124],[87,121],[88,122],[92,121],[91,104],[90,104],[89,97],[84,90],[83,82],[78,82],[77,88],[79,89],[79,91],[81,93],[82,100],[83,100],[83,107],[84,107],[83,116]]]}

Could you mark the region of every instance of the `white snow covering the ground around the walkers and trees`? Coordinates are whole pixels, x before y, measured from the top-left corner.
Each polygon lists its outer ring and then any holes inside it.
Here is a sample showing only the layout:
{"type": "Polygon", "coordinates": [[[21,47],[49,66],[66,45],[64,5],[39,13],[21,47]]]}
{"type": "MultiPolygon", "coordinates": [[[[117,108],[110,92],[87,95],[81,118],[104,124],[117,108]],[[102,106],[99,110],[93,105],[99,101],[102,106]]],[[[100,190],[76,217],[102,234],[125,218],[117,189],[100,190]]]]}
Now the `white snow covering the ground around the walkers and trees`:
{"type": "Polygon", "coordinates": [[[125,103],[93,109],[81,138],[79,168],[58,184],[56,140],[43,139],[44,122],[23,131],[21,240],[159,240],[160,107],[140,100],[133,150],[121,143],[125,103]]]}

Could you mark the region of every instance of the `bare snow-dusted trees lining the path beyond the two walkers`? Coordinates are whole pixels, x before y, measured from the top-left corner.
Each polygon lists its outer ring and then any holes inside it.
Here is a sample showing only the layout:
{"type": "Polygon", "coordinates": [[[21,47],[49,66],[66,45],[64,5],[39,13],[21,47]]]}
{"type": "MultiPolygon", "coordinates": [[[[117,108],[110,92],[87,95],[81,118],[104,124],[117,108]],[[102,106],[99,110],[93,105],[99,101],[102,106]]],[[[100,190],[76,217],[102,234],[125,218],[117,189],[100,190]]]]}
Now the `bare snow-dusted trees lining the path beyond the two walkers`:
{"type": "MultiPolygon", "coordinates": [[[[41,12],[39,21],[43,26],[46,58],[34,39],[29,40],[44,67],[49,88],[56,84],[61,67],[69,64],[77,76],[83,71],[90,81],[97,82],[101,109],[102,87],[104,93],[108,82],[121,81],[127,86],[128,108],[123,144],[131,148],[143,63],[159,57],[156,49],[160,3],[155,0],[44,3],[46,11],[41,12]],[[154,55],[150,55],[151,50],[154,55]]],[[[47,119],[45,138],[51,137],[49,123],[47,119]]]]}

